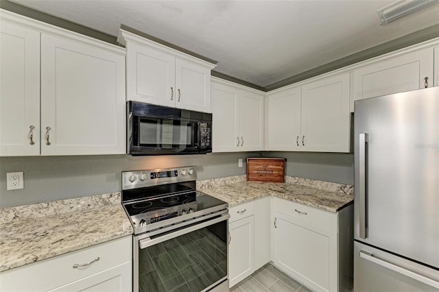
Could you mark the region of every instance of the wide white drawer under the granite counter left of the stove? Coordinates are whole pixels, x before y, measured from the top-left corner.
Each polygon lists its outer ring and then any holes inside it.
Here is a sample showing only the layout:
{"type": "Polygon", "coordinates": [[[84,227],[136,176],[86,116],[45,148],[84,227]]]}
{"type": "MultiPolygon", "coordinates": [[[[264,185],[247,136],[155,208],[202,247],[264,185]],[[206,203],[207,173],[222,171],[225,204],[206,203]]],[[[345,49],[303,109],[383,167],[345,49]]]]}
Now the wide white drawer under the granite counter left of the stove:
{"type": "Polygon", "coordinates": [[[69,252],[0,273],[1,291],[47,291],[132,259],[132,236],[69,252]],[[91,265],[73,268],[75,264],[91,265]]]}

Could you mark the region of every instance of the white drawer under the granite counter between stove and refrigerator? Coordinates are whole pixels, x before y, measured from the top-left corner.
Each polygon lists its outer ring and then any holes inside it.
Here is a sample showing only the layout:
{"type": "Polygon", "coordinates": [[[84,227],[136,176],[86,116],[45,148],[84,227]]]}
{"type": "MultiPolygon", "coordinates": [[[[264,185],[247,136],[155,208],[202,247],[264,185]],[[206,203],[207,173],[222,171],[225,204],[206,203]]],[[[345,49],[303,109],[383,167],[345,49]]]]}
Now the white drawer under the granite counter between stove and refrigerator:
{"type": "Polygon", "coordinates": [[[286,199],[274,198],[274,211],[337,232],[337,214],[286,199]]]}

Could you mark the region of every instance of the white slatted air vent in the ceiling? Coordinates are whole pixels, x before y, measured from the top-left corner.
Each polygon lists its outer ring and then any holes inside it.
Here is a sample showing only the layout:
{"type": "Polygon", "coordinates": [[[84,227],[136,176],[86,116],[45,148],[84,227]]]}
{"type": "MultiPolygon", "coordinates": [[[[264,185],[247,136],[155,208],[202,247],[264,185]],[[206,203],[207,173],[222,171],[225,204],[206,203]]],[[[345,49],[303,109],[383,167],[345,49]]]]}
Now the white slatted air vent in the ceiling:
{"type": "Polygon", "coordinates": [[[400,0],[377,10],[381,25],[386,25],[396,19],[416,11],[423,10],[431,5],[439,3],[439,0],[400,0]]]}

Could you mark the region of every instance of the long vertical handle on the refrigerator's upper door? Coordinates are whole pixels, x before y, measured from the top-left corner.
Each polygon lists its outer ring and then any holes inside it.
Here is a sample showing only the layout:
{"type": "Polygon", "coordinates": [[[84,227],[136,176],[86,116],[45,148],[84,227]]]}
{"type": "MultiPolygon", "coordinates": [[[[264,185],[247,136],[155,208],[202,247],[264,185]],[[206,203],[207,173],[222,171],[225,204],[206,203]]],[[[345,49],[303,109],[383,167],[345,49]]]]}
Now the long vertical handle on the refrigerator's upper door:
{"type": "Polygon", "coordinates": [[[368,133],[359,134],[359,237],[366,239],[366,184],[367,184],[367,143],[368,133]]]}

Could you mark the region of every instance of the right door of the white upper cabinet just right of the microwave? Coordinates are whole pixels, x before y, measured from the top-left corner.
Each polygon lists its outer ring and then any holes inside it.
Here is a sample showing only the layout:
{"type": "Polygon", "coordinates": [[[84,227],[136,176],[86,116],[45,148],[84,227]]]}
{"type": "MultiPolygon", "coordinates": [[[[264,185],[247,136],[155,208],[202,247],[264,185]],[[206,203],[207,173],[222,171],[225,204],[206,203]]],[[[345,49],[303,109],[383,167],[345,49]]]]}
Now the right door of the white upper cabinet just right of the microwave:
{"type": "Polygon", "coordinates": [[[263,96],[241,90],[239,94],[239,151],[263,149],[263,96]]]}

